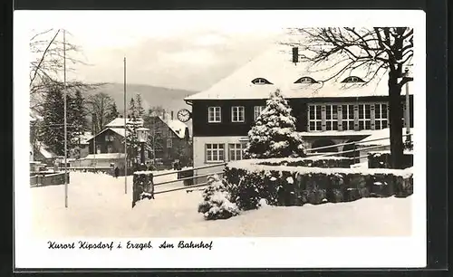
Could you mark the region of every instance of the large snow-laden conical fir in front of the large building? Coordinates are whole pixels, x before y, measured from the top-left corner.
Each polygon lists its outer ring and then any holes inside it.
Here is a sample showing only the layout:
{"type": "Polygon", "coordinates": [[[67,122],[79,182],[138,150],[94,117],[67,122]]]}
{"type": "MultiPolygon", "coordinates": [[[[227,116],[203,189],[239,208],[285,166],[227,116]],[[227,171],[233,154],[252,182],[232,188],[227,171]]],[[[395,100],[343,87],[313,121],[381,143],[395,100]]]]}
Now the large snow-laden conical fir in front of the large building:
{"type": "Polygon", "coordinates": [[[295,118],[280,91],[271,94],[265,110],[248,131],[246,158],[304,157],[304,141],[295,131],[295,118]]]}

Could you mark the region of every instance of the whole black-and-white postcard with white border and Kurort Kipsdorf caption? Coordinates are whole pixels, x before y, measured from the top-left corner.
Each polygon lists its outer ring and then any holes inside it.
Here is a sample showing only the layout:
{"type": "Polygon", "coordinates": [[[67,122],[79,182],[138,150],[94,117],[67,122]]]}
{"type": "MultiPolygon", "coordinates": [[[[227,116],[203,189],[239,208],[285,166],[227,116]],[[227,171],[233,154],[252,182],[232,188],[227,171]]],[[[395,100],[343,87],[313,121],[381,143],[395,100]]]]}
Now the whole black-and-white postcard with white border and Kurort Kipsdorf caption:
{"type": "Polygon", "coordinates": [[[424,20],[14,13],[17,266],[424,266],[424,20]]]}

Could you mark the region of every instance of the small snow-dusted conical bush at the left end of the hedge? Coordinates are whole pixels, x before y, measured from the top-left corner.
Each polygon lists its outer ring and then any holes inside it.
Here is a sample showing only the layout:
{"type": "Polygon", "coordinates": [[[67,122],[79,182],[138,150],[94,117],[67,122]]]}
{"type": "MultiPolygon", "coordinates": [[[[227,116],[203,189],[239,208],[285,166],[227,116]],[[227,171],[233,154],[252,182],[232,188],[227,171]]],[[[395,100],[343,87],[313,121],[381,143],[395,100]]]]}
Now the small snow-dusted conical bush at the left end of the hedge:
{"type": "Polygon", "coordinates": [[[237,205],[231,203],[226,184],[217,175],[208,177],[209,186],[203,191],[203,201],[198,205],[198,213],[207,220],[226,219],[239,215],[237,205]]]}

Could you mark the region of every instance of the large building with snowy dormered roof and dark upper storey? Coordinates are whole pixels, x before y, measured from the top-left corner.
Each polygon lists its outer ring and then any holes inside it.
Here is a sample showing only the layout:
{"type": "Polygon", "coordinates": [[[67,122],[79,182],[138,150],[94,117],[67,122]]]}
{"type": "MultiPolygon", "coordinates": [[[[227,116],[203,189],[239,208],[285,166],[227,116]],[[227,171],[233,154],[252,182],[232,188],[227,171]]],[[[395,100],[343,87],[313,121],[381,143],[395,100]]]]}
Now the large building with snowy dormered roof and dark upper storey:
{"type": "MultiPolygon", "coordinates": [[[[386,72],[373,79],[368,79],[368,71],[345,72],[326,81],[334,74],[332,66],[320,70],[294,64],[291,55],[271,50],[207,91],[185,99],[192,109],[194,167],[242,159],[247,132],[276,90],[288,100],[296,131],[307,149],[333,146],[318,151],[352,150],[353,146],[334,145],[359,141],[375,130],[389,128],[386,72]]],[[[404,95],[401,101],[405,103],[404,95]]],[[[410,126],[412,110],[410,95],[410,126]]],[[[352,155],[355,153],[344,154],[352,155]]],[[[199,170],[198,174],[213,171],[218,168],[199,170]]]]}

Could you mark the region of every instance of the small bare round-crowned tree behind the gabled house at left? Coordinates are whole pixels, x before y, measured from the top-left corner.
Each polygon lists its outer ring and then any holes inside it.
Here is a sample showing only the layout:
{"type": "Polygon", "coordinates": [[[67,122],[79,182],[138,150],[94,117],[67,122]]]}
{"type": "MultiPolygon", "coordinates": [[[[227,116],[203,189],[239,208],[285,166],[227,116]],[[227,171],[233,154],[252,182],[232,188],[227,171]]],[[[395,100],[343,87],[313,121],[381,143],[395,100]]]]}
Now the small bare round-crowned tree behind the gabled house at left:
{"type": "Polygon", "coordinates": [[[85,103],[87,112],[92,115],[93,131],[100,131],[112,120],[111,110],[115,101],[110,95],[104,92],[92,94],[87,97],[85,103]]]}

